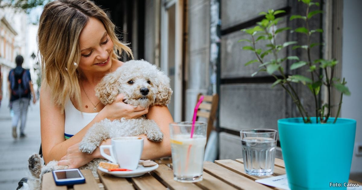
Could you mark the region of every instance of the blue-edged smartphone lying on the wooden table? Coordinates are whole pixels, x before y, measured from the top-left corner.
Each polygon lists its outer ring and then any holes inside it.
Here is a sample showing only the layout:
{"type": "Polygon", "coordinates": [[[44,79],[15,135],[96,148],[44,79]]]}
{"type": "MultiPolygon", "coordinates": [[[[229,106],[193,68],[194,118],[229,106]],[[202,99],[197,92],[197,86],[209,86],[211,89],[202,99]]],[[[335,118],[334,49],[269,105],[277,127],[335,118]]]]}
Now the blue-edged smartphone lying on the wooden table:
{"type": "Polygon", "coordinates": [[[53,177],[56,185],[85,183],[85,178],[78,168],[54,170],[53,177]]]}

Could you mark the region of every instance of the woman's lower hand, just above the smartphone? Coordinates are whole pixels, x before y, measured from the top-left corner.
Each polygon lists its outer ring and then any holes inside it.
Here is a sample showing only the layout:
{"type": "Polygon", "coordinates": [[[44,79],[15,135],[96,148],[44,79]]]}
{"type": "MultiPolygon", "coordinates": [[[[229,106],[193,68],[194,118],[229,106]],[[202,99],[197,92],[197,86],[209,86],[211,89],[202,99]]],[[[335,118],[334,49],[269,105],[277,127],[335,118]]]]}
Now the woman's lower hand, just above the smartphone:
{"type": "MultiPolygon", "coordinates": [[[[99,148],[97,148],[99,149],[99,148]]],[[[58,165],[67,165],[69,168],[79,168],[94,159],[94,155],[79,152],[79,143],[70,146],[67,154],[60,159],[58,165]]]]}

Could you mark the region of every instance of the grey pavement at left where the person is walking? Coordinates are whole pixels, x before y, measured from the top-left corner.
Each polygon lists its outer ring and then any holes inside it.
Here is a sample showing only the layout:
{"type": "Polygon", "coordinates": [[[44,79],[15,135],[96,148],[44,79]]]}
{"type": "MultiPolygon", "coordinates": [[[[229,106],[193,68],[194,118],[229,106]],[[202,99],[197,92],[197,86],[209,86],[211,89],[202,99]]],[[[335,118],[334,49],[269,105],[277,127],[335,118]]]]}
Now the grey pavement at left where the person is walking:
{"type": "MultiPolygon", "coordinates": [[[[38,153],[40,146],[39,101],[28,108],[28,119],[24,139],[14,139],[11,133],[11,118],[8,98],[4,97],[0,107],[0,189],[14,190],[19,180],[28,173],[28,158],[38,153]]],[[[19,122],[20,124],[20,122],[19,122]]],[[[18,127],[19,136],[19,127],[18,127]]]]}

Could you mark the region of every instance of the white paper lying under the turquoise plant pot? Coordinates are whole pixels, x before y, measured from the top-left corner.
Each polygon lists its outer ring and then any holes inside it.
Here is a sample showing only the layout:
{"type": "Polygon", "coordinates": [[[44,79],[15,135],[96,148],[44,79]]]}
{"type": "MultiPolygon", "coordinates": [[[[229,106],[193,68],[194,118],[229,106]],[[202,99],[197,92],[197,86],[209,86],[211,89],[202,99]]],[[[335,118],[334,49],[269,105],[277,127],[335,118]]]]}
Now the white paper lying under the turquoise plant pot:
{"type": "MultiPolygon", "coordinates": [[[[288,186],[287,174],[281,176],[273,176],[269,178],[264,178],[261,180],[255,180],[255,182],[269,185],[272,187],[278,187],[280,189],[290,190],[288,186]]],[[[362,186],[359,187],[347,187],[347,190],[362,190],[362,186]]]]}

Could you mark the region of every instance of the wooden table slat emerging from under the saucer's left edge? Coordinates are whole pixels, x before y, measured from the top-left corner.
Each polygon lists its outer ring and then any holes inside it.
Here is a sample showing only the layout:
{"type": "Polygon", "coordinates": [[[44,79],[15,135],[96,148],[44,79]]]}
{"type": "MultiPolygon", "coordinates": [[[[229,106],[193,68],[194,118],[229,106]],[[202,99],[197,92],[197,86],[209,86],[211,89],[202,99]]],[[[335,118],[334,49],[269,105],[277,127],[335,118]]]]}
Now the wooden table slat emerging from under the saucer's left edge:
{"type": "Polygon", "coordinates": [[[122,187],[122,190],[134,190],[132,183],[127,181],[126,178],[115,177],[110,174],[104,173],[101,170],[97,169],[99,179],[104,185],[105,190],[118,190],[119,187],[122,187]]]}

